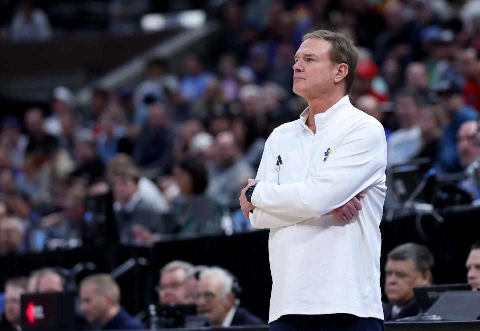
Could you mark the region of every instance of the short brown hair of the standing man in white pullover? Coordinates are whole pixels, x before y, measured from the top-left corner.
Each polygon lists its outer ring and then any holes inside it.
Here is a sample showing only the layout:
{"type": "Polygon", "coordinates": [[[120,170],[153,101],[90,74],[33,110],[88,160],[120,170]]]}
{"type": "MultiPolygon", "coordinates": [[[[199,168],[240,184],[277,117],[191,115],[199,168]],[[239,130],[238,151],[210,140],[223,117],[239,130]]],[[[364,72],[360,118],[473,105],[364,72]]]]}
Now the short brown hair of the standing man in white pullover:
{"type": "Polygon", "coordinates": [[[339,32],[317,30],[303,35],[301,41],[307,39],[322,39],[330,43],[328,57],[332,63],[345,63],[348,65],[348,73],[345,77],[345,95],[350,94],[353,80],[355,80],[356,67],[358,66],[358,49],[353,40],[339,32]]]}

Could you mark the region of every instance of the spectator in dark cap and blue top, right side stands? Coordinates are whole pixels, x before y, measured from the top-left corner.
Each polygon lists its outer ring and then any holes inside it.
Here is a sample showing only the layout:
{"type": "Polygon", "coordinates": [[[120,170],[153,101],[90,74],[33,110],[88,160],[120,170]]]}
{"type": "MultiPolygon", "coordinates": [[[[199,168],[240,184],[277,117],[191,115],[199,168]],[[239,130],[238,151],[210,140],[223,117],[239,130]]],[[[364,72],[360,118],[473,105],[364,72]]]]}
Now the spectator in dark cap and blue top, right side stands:
{"type": "Polygon", "coordinates": [[[436,92],[440,99],[440,105],[445,109],[448,124],[440,138],[440,150],[435,160],[435,168],[438,173],[461,172],[462,166],[456,147],[456,139],[460,125],[466,121],[476,120],[478,112],[464,103],[462,90],[454,81],[444,80],[438,82],[436,92]]]}

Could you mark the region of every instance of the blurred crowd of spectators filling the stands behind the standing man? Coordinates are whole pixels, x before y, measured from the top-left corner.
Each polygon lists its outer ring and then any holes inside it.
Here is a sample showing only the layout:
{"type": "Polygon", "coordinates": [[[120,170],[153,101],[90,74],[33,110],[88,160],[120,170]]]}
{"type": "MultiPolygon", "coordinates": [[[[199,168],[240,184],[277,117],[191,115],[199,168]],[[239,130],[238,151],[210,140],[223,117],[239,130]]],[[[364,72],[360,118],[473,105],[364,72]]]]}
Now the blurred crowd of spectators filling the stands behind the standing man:
{"type": "Polygon", "coordinates": [[[478,198],[479,1],[265,3],[225,2],[215,47],[183,72],[150,58],[143,82],[98,86],[87,107],[58,86],[49,109],[4,116],[0,252],[80,246],[99,206],[126,245],[252,230],[238,196],[272,129],[306,107],[292,64],[314,29],[356,41],[350,100],[384,125],[390,169],[464,172],[458,186],[478,198]]]}

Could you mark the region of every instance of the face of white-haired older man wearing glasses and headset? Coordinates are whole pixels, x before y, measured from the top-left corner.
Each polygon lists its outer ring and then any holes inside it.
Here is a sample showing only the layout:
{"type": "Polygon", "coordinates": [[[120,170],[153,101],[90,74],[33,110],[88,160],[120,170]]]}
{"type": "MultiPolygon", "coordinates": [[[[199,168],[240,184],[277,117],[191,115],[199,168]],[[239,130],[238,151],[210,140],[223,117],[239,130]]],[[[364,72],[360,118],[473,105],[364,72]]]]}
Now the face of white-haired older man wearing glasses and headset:
{"type": "Polygon", "coordinates": [[[231,293],[223,296],[218,276],[210,275],[199,281],[196,309],[198,314],[208,316],[213,325],[221,325],[233,307],[233,302],[231,293]]]}

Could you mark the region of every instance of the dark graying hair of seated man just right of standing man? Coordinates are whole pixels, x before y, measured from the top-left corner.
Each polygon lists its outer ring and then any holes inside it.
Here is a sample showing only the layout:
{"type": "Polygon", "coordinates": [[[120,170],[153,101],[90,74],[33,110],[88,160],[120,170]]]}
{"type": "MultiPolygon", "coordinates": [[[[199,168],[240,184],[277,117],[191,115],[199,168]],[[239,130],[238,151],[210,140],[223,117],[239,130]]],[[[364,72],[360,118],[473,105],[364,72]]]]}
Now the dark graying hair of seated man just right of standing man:
{"type": "Polygon", "coordinates": [[[428,247],[416,243],[405,243],[395,247],[388,253],[387,258],[395,261],[411,259],[416,270],[421,273],[430,270],[435,263],[435,258],[428,247]]]}

